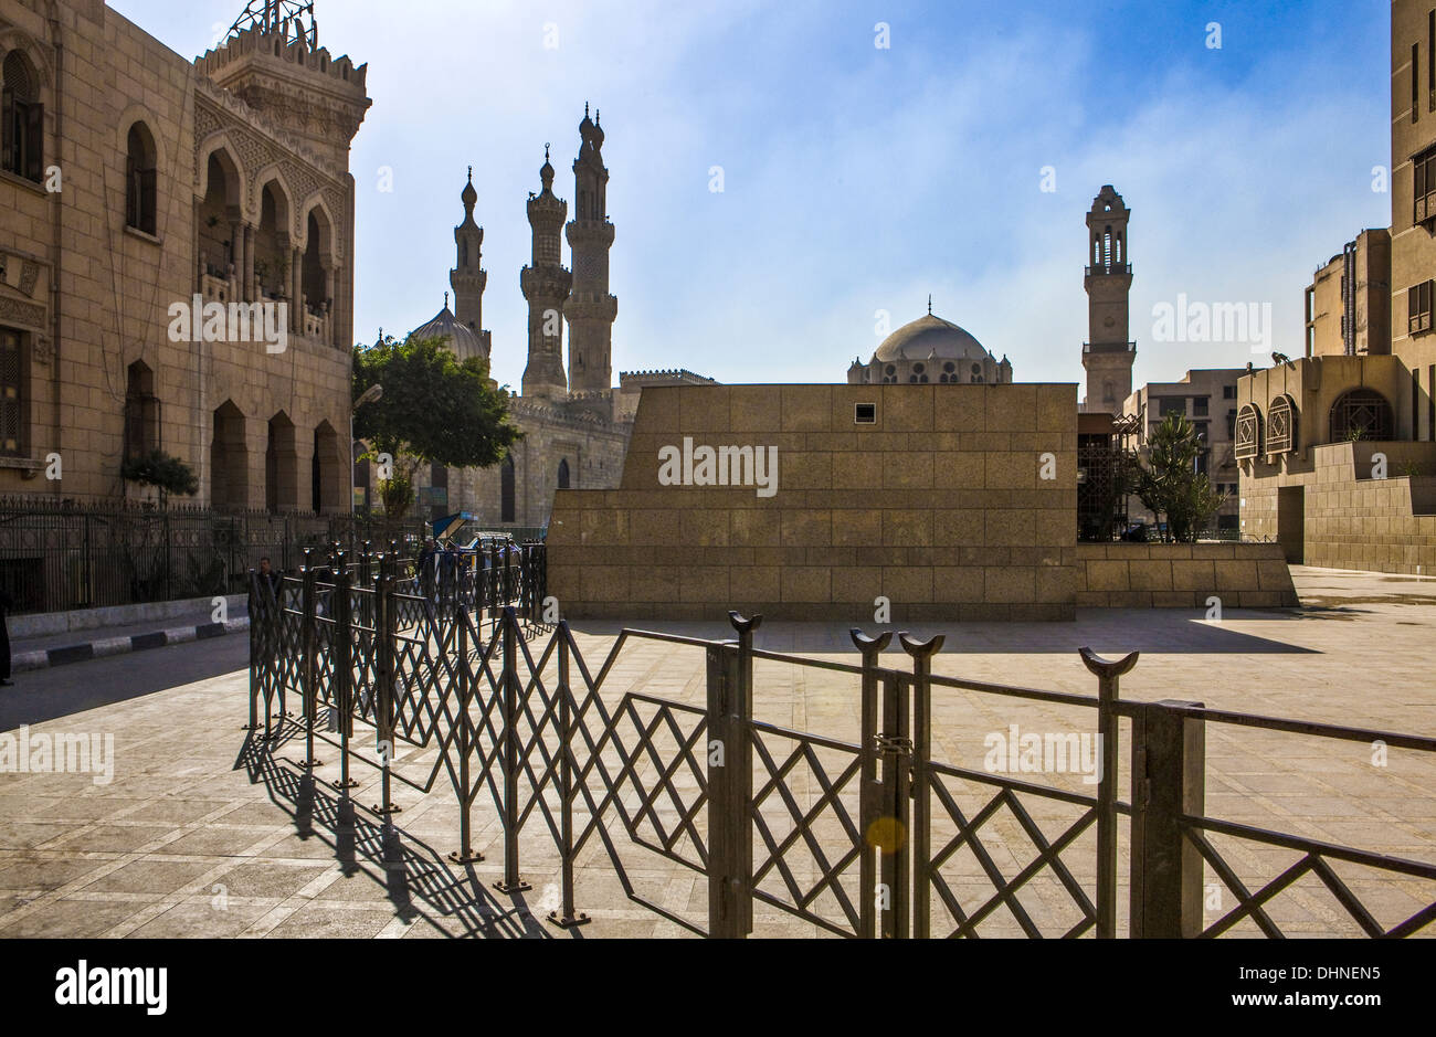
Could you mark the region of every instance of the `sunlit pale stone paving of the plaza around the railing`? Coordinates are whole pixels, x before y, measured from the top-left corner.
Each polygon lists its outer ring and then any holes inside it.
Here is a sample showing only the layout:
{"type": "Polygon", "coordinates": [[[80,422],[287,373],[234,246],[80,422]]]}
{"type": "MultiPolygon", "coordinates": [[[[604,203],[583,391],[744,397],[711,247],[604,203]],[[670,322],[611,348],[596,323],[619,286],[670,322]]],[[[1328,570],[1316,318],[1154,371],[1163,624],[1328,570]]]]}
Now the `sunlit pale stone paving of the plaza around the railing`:
{"type": "MultiPolygon", "coordinates": [[[[915,633],[943,633],[935,672],[1091,695],[1096,678],[1077,648],[1109,658],[1140,651],[1122,682],[1123,698],[1200,701],[1208,707],[1423,734],[1436,733],[1436,689],[1429,685],[1436,580],[1294,569],[1304,608],[1298,612],[1228,610],[1221,622],[1186,610],[1078,610],[1074,623],[969,623],[915,633]]],[[[656,623],[633,623],[653,629],[656,623]]],[[[583,623],[579,643],[596,668],[615,625],[583,623]]],[[[719,623],[662,629],[724,638],[719,623]]],[[[837,623],[774,623],[760,648],[856,662],[837,623]]],[[[303,740],[286,737],[263,751],[247,745],[248,678],[243,636],[197,642],[57,671],[22,675],[0,692],[0,731],[113,735],[112,778],[93,773],[0,774],[0,936],[681,936],[686,931],[623,895],[609,850],[590,839],[577,862],[577,908],[593,922],[561,931],[543,921],[559,906],[559,856],[536,813],[521,840],[521,870],[531,889],[504,895],[503,833],[487,791],[474,809],[474,849],[485,860],[454,865],[458,809],[448,778],[422,796],[396,786],[402,812],[389,833],[366,807],[379,799],[373,771],[356,767],[360,786],[352,810],[327,783],[337,777],[336,751],[320,745],[314,780],[296,766],[303,740]],[[98,780],[101,783],[98,783],[98,780]]],[[[905,666],[902,652],[885,664],[905,666]]],[[[630,642],[605,684],[605,701],[625,691],[702,707],[701,648],[630,642]]],[[[294,708],[294,704],[290,704],[294,708]]],[[[755,720],[836,740],[856,740],[857,681],[787,664],[758,661],[755,720]]],[[[1090,731],[1091,712],[992,695],[933,694],[933,755],[981,770],[985,740],[1021,731],[1090,731]]],[[[780,738],[765,748],[785,755],[780,738]]],[[[824,767],[836,767],[819,753],[824,767]]],[[[1436,758],[1371,745],[1209,724],[1206,813],[1311,839],[1416,860],[1436,860],[1436,758]]],[[[1123,724],[1119,791],[1129,796],[1123,724]]],[[[399,773],[421,780],[432,753],[402,748],[399,773]]],[[[93,761],[92,761],[93,763],[93,761]]],[[[33,770],[33,768],[32,768],[33,770]]],[[[95,770],[95,767],[92,767],[95,770]]],[[[679,768],[682,770],[682,768],[679,768]]],[[[1078,773],[1024,776],[1093,794],[1078,773]]],[[[820,780],[796,768],[791,793],[801,804],[821,796],[820,780]]],[[[675,777],[692,793],[692,776],[675,777]]],[[[964,787],[954,797],[976,810],[992,789],[964,787]]],[[[689,800],[691,801],[691,800],[689,800]]],[[[1053,837],[1071,823],[1073,807],[1024,800],[1053,837]]],[[[783,812],[775,801],[774,824],[783,812]]],[[[679,812],[665,807],[665,824],[679,812]]],[[[633,888],[663,909],[705,924],[707,882],[694,870],[629,842],[609,819],[616,855],[633,888]]],[[[841,829],[826,819],[814,829],[841,829]]],[[[941,845],[951,823],[933,824],[941,845]],[[946,824],[946,827],[945,827],[946,824]]],[[[982,829],[992,863],[1011,876],[1034,857],[1018,823],[1004,814],[982,829]]],[[[824,840],[826,845],[827,840],[824,840]]],[[[1290,850],[1213,840],[1248,886],[1269,880],[1300,857],[1290,850]]],[[[1119,845],[1126,845],[1126,820],[1119,845]]],[[[758,859],[763,859],[761,847],[758,859]]],[[[1063,853],[1088,890],[1093,832],[1063,853]]],[[[1337,862],[1335,870],[1379,922],[1391,926],[1436,899],[1436,883],[1337,862]]],[[[853,869],[856,870],[856,868],[853,869]]],[[[790,859],[800,885],[816,873],[811,859],[790,859]]],[[[991,896],[991,882],[972,862],[952,862],[948,879],[965,908],[991,896]]],[[[1126,918],[1126,863],[1119,869],[1119,932],[1126,918]]],[[[1234,906],[1208,870],[1208,919],[1234,906]]],[[[856,879],[854,883],[856,886],[856,879]]],[[[770,870],[760,888],[783,895],[770,870]]],[[[1050,870],[1021,893],[1044,932],[1074,918],[1070,898],[1050,870]]],[[[1268,906],[1288,935],[1360,935],[1320,882],[1308,875],[1268,906]]],[[[814,911],[837,919],[824,893],[814,911]]],[[[933,911],[933,932],[952,928],[933,911]]],[[[1436,926],[1427,926],[1427,934],[1436,926]]],[[[1021,935],[1004,906],[984,935],[1021,935]]],[[[755,908],[755,935],[810,936],[819,928],[767,903],[755,908]]],[[[1234,935],[1256,935],[1251,924],[1234,935]]]]}

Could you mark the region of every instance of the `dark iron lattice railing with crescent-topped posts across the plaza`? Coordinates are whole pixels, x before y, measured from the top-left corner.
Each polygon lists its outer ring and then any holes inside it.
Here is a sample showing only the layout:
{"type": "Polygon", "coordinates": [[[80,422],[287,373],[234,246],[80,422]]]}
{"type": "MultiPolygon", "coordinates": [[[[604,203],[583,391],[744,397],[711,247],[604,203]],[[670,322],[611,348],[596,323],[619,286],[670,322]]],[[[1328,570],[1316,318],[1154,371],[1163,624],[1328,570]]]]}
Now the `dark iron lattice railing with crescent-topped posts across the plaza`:
{"type": "Polygon", "coordinates": [[[1123,701],[1119,681],[1136,654],[1107,661],[1083,649],[1097,694],[1081,695],[935,675],[941,636],[899,633],[902,668],[882,662],[890,632],[853,631],[856,664],[770,652],[754,646],[761,618],[738,613],[731,613],[731,641],[625,629],[593,669],[566,622],[544,623],[551,602],[543,597],[541,549],[517,567],[516,577],[475,566],[467,585],[462,575],[439,575],[431,590],[422,575],[405,576],[391,553],[304,566],[281,577],[277,592],[254,579],[253,751],[273,757],[276,745],[303,738],[300,764],[314,767],[316,741],[329,743],[340,754],[336,787],[345,797],[358,784],[350,763],[379,771],[370,810],[386,820],[398,810],[393,781],[428,793],[447,774],[458,806],[451,865],[482,860],[474,845],[482,797],[503,833],[501,892],[528,888],[523,839],[557,849],[561,905],[550,921],[560,926],[587,921],[577,909],[574,863],[593,839],[629,899],[711,936],[754,932],[755,905],[857,938],[992,929],[1215,936],[1246,918],[1275,936],[1281,924],[1268,902],[1305,875],[1315,875],[1367,935],[1412,935],[1436,919],[1432,896],[1403,921],[1377,921],[1330,862],[1422,880],[1436,880],[1436,865],[1208,816],[1203,733],[1208,724],[1242,725],[1417,753],[1436,753],[1436,738],[1195,702],[1123,701]],[[639,642],[702,651],[707,698],[682,701],[643,687],[610,691],[615,665],[639,642]],[[774,666],[856,682],[853,735],[757,718],[755,702],[777,691],[774,666]],[[935,698],[945,711],[964,699],[1090,711],[1100,757],[1096,791],[954,763],[938,750],[946,733],[933,720],[935,698]],[[286,714],[290,699],[302,707],[296,718],[286,714]],[[1130,721],[1130,801],[1117,787],[1123,718],[1130,721]],[[358,748],[356,721],[372,731],[373,753],[358,748]],[[1117,896],[1123,817],[1130,817],[1124,932],[1117,896]],[[1302,856],[1252,892],[1215,836],[1302,856]],[[638,889],[623,846],[702,876],[707,918],[638,889]],[[1238,901],[1211,925],[1206,866],[1238,901]]]}

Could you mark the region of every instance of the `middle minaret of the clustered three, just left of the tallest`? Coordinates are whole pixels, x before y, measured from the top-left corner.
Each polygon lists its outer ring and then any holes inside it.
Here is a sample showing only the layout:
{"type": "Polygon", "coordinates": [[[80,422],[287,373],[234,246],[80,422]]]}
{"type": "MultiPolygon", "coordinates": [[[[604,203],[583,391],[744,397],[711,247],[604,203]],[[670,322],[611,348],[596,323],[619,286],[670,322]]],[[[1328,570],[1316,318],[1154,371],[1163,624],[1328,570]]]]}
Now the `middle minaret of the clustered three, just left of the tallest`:
{"type": "Polygon", "coordinates": [[[569,203],[553,194],[553,167],[549,145],[543,148],[538,171],[543,191],[528,195],[528,225],[533,228],[533,266],[518,274],[528,300],[528,366],[524,368],[524,396],[563,399],[569,383],[563,375],[563,306],[573,286],[573,274],[563,266],[563,218],[569,203]]]}

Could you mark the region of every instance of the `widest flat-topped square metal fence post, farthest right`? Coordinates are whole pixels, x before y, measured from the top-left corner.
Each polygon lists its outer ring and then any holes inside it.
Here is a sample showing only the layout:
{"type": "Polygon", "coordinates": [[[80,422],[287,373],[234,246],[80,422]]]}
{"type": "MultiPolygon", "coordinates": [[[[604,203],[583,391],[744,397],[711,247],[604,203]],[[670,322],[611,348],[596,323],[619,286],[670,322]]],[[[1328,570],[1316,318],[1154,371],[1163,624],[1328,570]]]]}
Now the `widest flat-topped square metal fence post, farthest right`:
{"type": "Polygon", "coordinates": [[[1182,834],[1182,814],[1206,800],[1206,724],[1180,710],[1200,702],[1143,702],[1132,718],[1133,939],[1202,934],[1202,855],[1182,834]]]}

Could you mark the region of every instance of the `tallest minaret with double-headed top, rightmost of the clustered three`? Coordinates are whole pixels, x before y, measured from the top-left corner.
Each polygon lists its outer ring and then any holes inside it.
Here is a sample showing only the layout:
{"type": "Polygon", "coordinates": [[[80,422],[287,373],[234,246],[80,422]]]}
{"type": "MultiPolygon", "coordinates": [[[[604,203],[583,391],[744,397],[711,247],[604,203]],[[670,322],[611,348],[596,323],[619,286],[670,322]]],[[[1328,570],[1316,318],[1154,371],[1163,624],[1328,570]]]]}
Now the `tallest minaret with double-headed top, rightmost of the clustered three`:
{"type": "Polygon", "coordinates": [[[569,319],[569,391],[599,392],[613,382],[613,317],[619,300],[609,294],[609,248],[613,224],[607,220],[609,171],[603,168],[603,131],[583,106],[579,124],[583,145],[573,164],[573,294],[563,307],[569,319]]]}

